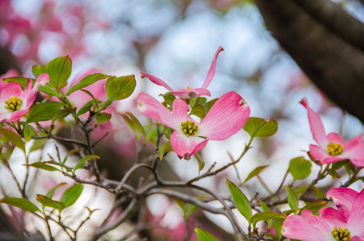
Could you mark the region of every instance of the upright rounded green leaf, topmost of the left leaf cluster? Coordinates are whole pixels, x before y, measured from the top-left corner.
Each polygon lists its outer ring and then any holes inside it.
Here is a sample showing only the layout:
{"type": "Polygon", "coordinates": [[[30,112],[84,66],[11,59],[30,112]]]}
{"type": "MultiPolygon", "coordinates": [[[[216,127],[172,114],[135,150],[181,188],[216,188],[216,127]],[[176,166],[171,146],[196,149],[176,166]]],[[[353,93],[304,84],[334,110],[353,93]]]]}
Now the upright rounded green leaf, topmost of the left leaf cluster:
{"type": "Polygon", "coordinates": [[[66,83],[71,75],[72,60],[67,56],[58,57],[51,60],[46,67],[50,83],[60,88],[66,83]]]}

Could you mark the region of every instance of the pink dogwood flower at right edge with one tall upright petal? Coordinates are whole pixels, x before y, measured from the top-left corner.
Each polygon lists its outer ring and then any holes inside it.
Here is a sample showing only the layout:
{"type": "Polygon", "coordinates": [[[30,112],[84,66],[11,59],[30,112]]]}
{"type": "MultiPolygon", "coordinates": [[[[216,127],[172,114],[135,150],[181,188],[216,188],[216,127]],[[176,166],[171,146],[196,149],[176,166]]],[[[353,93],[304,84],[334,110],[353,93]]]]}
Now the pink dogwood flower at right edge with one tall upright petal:
{"type": "Polygon", "coordinates": [[[309,107],[306,98],[300,102],[308,113],[308,122],[317,145],[310,145],[310,155],[322,164],[328,164],[349,159],[356,166],[364,166],[363,134],[344,141],[338,133],[326,135],[320,116],[309,107]]]}

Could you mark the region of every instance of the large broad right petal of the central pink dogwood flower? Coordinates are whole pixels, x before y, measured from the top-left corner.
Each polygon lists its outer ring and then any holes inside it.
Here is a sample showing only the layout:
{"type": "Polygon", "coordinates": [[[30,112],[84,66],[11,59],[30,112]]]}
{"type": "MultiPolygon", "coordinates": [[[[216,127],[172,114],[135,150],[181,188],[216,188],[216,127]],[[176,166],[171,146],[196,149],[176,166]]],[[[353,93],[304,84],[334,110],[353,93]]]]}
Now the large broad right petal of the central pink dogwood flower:
{"type": "Polygon", "coordinates": [[[199,125],[197,135],[212,140],[225,140],[237,133],[248,120],[248,103],[235,91],[221,96],[199,125]]]}

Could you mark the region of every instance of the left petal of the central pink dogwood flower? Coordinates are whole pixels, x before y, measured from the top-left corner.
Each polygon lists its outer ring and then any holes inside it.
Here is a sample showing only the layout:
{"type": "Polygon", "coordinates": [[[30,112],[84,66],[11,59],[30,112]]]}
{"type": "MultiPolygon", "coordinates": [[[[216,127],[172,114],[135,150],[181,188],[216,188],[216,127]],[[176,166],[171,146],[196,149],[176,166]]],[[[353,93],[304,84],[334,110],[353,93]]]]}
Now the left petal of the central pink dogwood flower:
{"type": "Polygon", "coordinates": [[[161,122],[174,130],[181,129],[181,122],[178,122],[171,112],[154,97],[140,93],[137,98],[138,110],[152,119],[161,122]]]}

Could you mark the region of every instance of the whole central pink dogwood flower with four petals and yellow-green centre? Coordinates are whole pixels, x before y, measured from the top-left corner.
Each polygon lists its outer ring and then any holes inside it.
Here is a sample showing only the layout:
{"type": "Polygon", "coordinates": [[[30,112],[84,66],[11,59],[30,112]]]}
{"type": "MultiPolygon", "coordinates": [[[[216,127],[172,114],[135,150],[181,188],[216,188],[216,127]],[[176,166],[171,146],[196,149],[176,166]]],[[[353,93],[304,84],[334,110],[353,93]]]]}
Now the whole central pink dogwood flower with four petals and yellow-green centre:
{"type": "Polygon", "coordinates": [[[137,104],[138,110],[143,115],[174,130],[170,135],[171,147],[175,153],[187,160],[205,147],[209,139],[225,140],[237,133],[244,126],[250,114],[248,103],[235,91],[221,96],[201,123],[187,115],[190,107],[182,99],[173,101],[173,114],[157,99],[146,93],[138,95],[137,104]]]}

